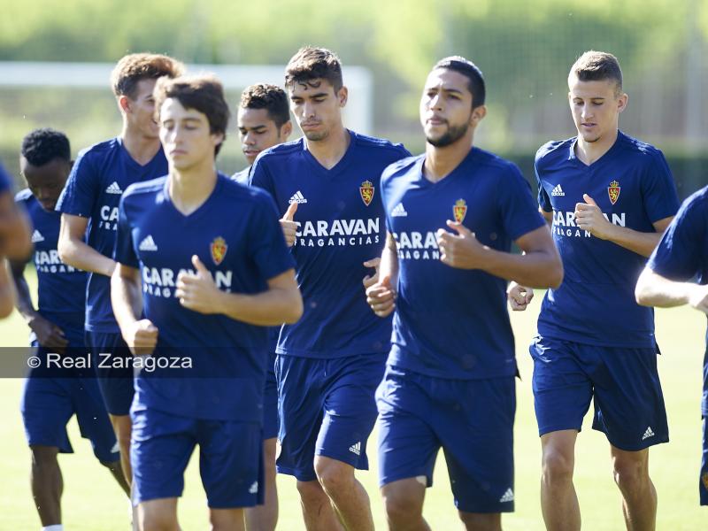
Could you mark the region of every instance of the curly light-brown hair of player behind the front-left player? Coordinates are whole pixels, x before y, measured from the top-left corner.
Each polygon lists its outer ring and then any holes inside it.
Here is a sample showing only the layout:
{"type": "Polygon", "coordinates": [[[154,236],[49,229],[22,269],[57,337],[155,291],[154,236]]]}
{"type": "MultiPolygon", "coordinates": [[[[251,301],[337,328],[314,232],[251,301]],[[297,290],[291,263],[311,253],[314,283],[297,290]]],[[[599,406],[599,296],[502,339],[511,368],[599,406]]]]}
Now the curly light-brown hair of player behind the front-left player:
{"type": "Polygon", "coordinates": [[[138,83],[163,76],[175,78],[184,73],[180,61],[156,53],[131,53],[121,58],[111,73],[111,87],[116,96],[135,99],[138,83]]]}

